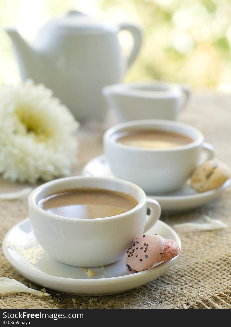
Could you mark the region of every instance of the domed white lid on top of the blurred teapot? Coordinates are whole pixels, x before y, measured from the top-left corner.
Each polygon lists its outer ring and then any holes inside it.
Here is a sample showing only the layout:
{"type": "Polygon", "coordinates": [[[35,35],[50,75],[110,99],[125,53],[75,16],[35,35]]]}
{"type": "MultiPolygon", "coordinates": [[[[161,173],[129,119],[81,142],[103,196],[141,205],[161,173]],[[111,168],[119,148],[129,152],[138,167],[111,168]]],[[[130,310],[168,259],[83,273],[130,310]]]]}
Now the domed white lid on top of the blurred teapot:
{"type": "Polygon", "coordinates": [[[71,10],[60,18],[52,19],[44,28],[47,32],[62,34],[93,34],[115,32],[116,26],[101,23],[83,12],[71,10]]]}

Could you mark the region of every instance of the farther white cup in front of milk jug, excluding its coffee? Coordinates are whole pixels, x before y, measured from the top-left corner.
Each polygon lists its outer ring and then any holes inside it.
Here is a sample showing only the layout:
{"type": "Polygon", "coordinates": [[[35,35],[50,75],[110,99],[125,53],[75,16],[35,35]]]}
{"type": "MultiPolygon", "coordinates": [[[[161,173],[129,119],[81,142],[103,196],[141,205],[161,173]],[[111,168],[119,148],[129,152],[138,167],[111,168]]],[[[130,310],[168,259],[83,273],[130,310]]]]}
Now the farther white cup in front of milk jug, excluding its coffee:
{"type": "Polygon", "coordinates": [[[147,194],[163,194],[179,189],[193,169],[213,157],[213,147],[204,143],[202,133],[187,124],[168,120],[135,120],[108,129],[103,145],[109,166],[117,178],[139,185],[147,194]],[[192,143],[171,148],[140,148],[120,144],[115,134],[137,129],[177,132],[192,143]]]}

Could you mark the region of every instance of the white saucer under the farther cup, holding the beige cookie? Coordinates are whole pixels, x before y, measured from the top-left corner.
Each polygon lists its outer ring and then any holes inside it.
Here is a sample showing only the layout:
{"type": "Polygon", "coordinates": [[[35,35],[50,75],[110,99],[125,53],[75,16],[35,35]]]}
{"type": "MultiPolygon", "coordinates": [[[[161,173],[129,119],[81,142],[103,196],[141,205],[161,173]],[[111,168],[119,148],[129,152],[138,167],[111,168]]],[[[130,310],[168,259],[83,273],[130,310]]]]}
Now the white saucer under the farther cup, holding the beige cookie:
{"type": "MultiPolygon", "coordinates": [[[[89,161],[85,165],[82,174],[85,176],[115,178],[104,155],[89,161]]],[[[148,194],[148,197],[154,198],[160,203],[162,212],[174,214],[177,212],[192,210],[218,198],[229,184],[230,180],[226,181],[222,187],[216,190],[197,193],[187,183],[185,183],[180,190],[175,192],[167,193],[162,196],[148,194]]]]}

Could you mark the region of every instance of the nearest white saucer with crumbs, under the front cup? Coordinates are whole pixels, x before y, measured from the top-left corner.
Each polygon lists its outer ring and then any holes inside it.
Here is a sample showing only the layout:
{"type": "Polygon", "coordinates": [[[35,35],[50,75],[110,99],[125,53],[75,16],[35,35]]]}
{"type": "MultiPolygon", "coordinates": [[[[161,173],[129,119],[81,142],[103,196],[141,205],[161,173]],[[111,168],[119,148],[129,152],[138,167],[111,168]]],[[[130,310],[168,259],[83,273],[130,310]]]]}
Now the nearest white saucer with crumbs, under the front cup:
{"type": "MultiPolygon", "coordinates": [[[[181,247],[177,233],[160,220],[148,232],[171,238],[181,247]]],[[[7,260],[24,277],[47,288],[79,295],[114,294],[141,286],[162,275],[179,256],[149,270],[131,274],[125,267],[125,253],[112,265],[92,268],[95,276],[89,278],[80,267],[62,264],[46,254],[35,239],[29,218],[8,231],[2,247],[7,260]]]]}

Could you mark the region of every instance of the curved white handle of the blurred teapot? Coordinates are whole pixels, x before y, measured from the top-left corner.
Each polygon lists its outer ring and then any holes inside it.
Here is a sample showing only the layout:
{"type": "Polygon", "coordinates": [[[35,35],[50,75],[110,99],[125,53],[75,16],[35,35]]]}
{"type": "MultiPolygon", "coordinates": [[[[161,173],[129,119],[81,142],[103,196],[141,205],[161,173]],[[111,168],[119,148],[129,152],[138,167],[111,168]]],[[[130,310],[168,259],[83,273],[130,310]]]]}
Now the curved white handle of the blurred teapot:
{"type": "Polygon", "coordinates": [[[134,24],[128,24],[128,23],[121,23],[119,26],[119,32],[122,30],[129,31],[133,38],[133,47],[131,49],[130,55],[128,56],[128,64],[127,68],[131,66],[133,61],[136,59],[141,43],[142,43],[142,32],[141,28],[134,24]]]}

